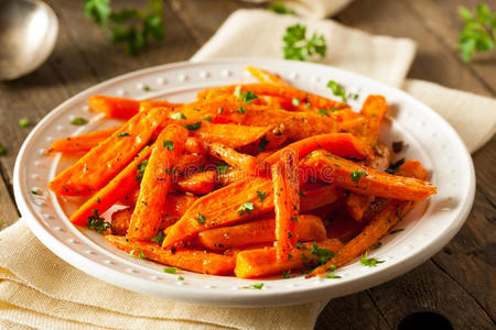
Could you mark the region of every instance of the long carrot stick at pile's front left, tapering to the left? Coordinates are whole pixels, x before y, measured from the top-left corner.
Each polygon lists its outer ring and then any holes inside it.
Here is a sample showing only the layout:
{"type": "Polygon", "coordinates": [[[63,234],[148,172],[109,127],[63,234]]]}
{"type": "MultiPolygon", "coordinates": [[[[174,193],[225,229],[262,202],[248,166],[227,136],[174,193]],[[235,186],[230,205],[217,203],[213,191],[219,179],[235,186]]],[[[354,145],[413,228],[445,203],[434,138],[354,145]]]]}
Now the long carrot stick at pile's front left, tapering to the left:
{"type": "Polygon", "coordinates": [[[105,240],[114,246],[128,253],[133,251],[134,256],[143,254],[145,258],[164,265],[179,267],[186,271],[209,275],[228,275],[235,267],[235,258],[231,256],[195,250],[170,250],[159,246],[157,243],[148,243],[126,237],[106,235],[105,240]]]}

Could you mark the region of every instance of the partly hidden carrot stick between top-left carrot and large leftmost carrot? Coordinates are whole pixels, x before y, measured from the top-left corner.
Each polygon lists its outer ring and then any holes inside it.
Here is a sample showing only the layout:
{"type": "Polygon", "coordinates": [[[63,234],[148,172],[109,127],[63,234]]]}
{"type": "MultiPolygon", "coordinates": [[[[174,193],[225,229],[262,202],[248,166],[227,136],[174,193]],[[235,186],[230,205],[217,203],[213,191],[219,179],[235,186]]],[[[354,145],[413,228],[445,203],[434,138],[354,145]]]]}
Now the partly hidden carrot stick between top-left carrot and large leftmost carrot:
{"type": "Polygon", "coordinates": [[[97,146],[98,143],[107,140],[119,129],[120,127],[115,127],[101,131],[56,140],[52,143],[52,146],[47,153],[73,154],[78,152],[87,152],[97,146]]]}

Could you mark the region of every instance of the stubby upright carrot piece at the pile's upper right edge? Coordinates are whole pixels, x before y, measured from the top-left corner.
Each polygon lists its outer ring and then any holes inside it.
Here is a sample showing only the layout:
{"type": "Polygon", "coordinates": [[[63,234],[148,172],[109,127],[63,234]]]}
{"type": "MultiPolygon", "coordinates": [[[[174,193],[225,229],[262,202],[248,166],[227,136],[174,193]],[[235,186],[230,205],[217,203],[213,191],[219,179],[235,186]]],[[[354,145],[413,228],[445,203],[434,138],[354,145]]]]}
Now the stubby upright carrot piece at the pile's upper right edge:
{"type": "Polygon", "coordinates": [[[360,113],[368,120],[364,138],[371,146],[377,143],[380,123],[387,109],[386,98],[381,95],[369,95],[362,106],[360,113]]]}

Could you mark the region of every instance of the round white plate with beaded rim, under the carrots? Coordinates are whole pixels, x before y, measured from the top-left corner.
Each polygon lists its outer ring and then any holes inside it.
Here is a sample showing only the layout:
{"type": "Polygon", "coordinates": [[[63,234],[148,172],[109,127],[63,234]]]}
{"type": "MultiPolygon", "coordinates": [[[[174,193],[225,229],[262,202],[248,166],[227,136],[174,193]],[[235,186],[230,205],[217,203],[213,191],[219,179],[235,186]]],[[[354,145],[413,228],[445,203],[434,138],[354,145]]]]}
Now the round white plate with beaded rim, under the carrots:
{"type": "Polygon", "coordinates": [[[33,233],[56,255],[80,271],[110,284],[148,295],[185,301],[229,306],[277,306],[330,299],[399,276],[421,264],[444,246],[466,219],[475,191],[472,160],[454,130],[434,111],[401,90],[333,67],[274,59],[223,59],[179,63],[143,69],[111,79],[65,101],[46,116],[22,145],[14,168],[14,193],[19,209],[33,233]],[[370,94],[386,96],[392,106],[391,124],[381,132],[382,142],[402,140],[408,145],[400,156],[420,160],[430,173],[438,194],[420,204],[387,235],[370,256],[386,261],[377,267],[358,262],[336,271],[339,279],[298,276],[262,280],[207,276],[181,271],[164,274],[163,266],[140,261],[107,244],[100,234],[75,228],[67,220],[74,200],[57,199],[46,185],[69,163],[60,156],[44,156],[52,141],[110,125],[100,114],[88,112],[86,100],[96,94],[138,99],[190,101],[195,92],[211,86],[251,78],[244,72],[254,65],[280,74],[294,86],[331,97],[327,80],[336,80],[359,94],[354,108],[370,94]],[[145,91],[147,86],[150,91],[145,91]],[[84,117],[84,127],[69,124],[84,117]],[[39,190],[39,195],[30,194],[39,190]],[[179,280],[179,276],[184,280],[179,280]],[[260,290],[244,289],[258,282],[260,290]]]}

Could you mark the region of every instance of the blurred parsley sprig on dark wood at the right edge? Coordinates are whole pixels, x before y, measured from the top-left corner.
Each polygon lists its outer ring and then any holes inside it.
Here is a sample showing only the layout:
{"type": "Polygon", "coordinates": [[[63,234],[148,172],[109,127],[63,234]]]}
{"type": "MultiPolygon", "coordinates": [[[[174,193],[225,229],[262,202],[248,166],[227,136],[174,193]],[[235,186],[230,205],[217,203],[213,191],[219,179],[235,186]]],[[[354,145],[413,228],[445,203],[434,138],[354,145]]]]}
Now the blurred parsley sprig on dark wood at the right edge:
{"type": "Polygon", "coordinates": [[[465,26],[460,32],[459,51],[464,62],[470,62],[475,52],[489,52],[496,43],[496,12],[479,3],[472,13],[466,7],[459,8],[465,26]]]}

